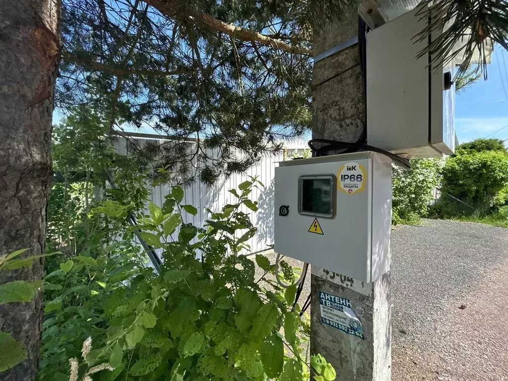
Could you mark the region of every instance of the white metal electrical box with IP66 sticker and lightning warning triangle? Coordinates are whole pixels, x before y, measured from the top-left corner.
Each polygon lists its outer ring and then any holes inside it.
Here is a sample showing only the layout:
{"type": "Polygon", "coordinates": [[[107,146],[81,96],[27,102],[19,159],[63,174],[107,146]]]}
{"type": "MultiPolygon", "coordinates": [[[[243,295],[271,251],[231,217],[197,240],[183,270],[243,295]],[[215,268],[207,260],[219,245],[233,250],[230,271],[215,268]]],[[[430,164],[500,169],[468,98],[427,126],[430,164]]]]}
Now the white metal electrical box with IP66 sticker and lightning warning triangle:
{"type": "Polygon", "coordinates": [[[280,162],[277,253],[364,282],[390,269],[392,161],[374,152],[280,162]]]}

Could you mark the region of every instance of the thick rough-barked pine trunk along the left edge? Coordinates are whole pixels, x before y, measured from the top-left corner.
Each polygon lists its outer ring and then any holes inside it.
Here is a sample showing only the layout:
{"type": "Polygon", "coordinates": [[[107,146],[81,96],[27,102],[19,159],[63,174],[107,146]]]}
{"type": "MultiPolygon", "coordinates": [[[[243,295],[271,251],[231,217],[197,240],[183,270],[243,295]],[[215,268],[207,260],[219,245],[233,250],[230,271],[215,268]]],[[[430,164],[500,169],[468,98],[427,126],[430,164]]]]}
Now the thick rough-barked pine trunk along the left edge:
{"type": "MultiPolygon", "coordinates": [[[[0,255],[44,252],[51,186],[51,118],[59,56],[58,0],[0,2],[0,255]]],[[[0,273],[0,284],[42,279],[44,261],[0,273]]],[[[28,357],[3,381],[34,380],[39,367],[42,292],[33,302],[0,306],[0,330],[28,357]]]]}

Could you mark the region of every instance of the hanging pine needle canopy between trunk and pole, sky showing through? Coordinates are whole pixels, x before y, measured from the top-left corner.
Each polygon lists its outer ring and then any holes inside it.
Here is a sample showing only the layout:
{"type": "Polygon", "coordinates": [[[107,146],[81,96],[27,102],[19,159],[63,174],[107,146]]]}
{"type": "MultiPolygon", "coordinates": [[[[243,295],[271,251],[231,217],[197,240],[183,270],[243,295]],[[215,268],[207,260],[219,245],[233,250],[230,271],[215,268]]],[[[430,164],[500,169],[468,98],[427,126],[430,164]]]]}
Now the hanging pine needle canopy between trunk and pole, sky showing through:
{"type": "Polygon", "coordinates": [[[175,137],[130,149],[151,163],[149,176],[178,174],[180,183],[244,172],[310,127],[312,28],[355,1],[171,3],[161,14],[142,1],[64,0],[57,107],[102,115],[109,133],[129,126],[175,137]],[[193,16],[203,13],[307,53],[223,34],[193,16]]]}

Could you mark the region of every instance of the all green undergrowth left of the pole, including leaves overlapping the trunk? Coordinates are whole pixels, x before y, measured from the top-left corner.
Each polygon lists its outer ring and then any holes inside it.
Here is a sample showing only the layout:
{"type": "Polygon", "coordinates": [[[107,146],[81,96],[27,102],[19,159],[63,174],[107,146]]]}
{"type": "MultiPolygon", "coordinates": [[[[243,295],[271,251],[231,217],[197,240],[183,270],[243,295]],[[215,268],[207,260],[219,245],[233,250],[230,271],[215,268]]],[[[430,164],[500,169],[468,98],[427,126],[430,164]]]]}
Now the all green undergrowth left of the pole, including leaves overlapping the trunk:
{"type": "MultiPolygon", "coordinates": [[[[44,288],[37,379],[335,379],[331,364],[309,354],[298,270],[281,267],[279,278],[291,284],[284,289],[267,257],[240,253],[257,232],[250,213],[258,205],[249,194],[264,184],[250,177],[231,189],[235,201],[208,210],[204,229],[187,223],[198,210],[182,203],[178,185],[164,205],[149,203],[144,213],[153,180],[139,158],[115,153],[100,133],[107,129],[86,113],[55,126],[44,283],[0,287],[6,305],[44,288]],[[136,231],[159,253],[160,273],[135,243],[136,231]]],[[[23,251],[2,258],[0,269],[31,266],[37,258],[18,260],[23,251]]],[[[0,351],[0,371],[26,358],[21,343],[8,335],[0,340],[0,348],[10,348],[0,351]]]]}

